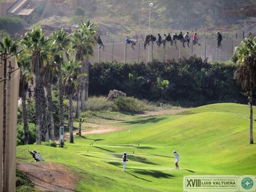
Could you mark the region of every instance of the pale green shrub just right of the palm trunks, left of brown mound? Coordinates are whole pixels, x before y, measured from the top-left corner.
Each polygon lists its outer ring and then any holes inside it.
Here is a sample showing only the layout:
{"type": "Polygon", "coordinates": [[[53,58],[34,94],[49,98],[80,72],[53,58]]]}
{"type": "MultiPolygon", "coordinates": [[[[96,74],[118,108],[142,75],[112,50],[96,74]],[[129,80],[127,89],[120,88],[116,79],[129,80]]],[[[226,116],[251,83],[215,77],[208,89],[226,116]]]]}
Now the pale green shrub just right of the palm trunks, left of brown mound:
{"type": "Polygon", "coordinates": [[[93,96],[85,102],[85,107],[88,111],[108,111],[113,109],[113,106],[113,102],[107,101],[103,96],[93,96]]]}

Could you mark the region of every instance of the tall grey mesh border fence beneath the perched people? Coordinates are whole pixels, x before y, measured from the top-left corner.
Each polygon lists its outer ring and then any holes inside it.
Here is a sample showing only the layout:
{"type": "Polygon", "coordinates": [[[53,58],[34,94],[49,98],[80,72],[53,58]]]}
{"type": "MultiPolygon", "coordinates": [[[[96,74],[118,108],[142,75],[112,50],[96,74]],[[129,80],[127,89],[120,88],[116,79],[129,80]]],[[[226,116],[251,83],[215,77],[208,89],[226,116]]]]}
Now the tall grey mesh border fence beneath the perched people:
{"type": "Polygon", "coordinates": [[[185,43],[185,48],[180,41],[177,41],[177,49],[173,43],[166,43],[164,47],[158,47],[156,43],[146,46],[144,49],[144,42],[138,41],[134,49],[130,44],[123,43],[106,43],[104,51],[99,48],[95,49],[95,54],[91,61],[117,61],[117,62],[151,62],[153,60],[168,61],[172,59],[189,58],[190,56],[198,56],[208,61],[228,61],[234,53],[234,49],[239,46],[241,40],[223,40],[222,48],[217,48],[216,40],[199,40],[198,44],[193,45],[190,41],[190,48],[185,43]]]}

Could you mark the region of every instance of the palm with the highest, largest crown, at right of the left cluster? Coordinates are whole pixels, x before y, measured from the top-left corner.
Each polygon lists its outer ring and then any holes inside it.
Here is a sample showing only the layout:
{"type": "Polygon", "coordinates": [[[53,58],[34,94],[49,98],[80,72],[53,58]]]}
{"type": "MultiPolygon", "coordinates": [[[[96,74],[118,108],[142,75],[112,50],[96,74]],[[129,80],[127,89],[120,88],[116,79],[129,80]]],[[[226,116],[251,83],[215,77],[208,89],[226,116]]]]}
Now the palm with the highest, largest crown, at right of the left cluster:
{"type": "Polygon", "coordinates": [[[87,23],[81,22],[79,29],[72,34],[72,49],[76,50],[75,60],[82,61],[81,73],[87,73],[87,77],[81,77],[79,80],[79,90],[82,91],[81,109],[85,111],[85,101],[88,99],[89,85],[89,57],[93,55],[93,49],[96,41],[96,31],[94,23],[88,20],[87,23]]]}

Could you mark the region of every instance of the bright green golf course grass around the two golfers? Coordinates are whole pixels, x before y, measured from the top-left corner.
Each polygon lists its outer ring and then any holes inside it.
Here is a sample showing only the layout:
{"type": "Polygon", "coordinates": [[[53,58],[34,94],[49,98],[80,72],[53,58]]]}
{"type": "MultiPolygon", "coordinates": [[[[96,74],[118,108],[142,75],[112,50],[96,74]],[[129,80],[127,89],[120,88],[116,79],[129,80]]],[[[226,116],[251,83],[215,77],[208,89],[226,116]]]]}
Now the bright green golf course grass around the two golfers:
{"type": "Polygon", "coordinates": [[[29,162],[26,150],[33,149],[46,162],[67,165],[80,175],[77,191],[182,191],[183,175],[255,174],[248,112],[245,105],[213,104],[182,115],[127,120],[117,123],[126,127],[122,131],[75,138],[64,149],[18,146],[17,157],[29,162]],[[174,170],[173,150],[179,152],[181,170],[174,170]],[[124,151],[127,173],[122,172],[124,151]]]}

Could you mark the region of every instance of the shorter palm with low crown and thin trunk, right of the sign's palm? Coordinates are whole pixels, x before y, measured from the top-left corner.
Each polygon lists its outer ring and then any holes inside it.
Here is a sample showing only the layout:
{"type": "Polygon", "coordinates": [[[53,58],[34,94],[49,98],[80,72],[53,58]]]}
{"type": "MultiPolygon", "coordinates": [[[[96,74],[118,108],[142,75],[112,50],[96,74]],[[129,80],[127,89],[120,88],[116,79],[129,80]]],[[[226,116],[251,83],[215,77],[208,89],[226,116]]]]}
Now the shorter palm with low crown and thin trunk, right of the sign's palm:
{"type": "Polygon", "coordinates": [[[74,143],[73,136],[73,94],[78,86],[78,77],[81,69],[80,62],[74,60],[65,62],[63,65],[64,93],[69,97],[69,143],[74,143]]]}

